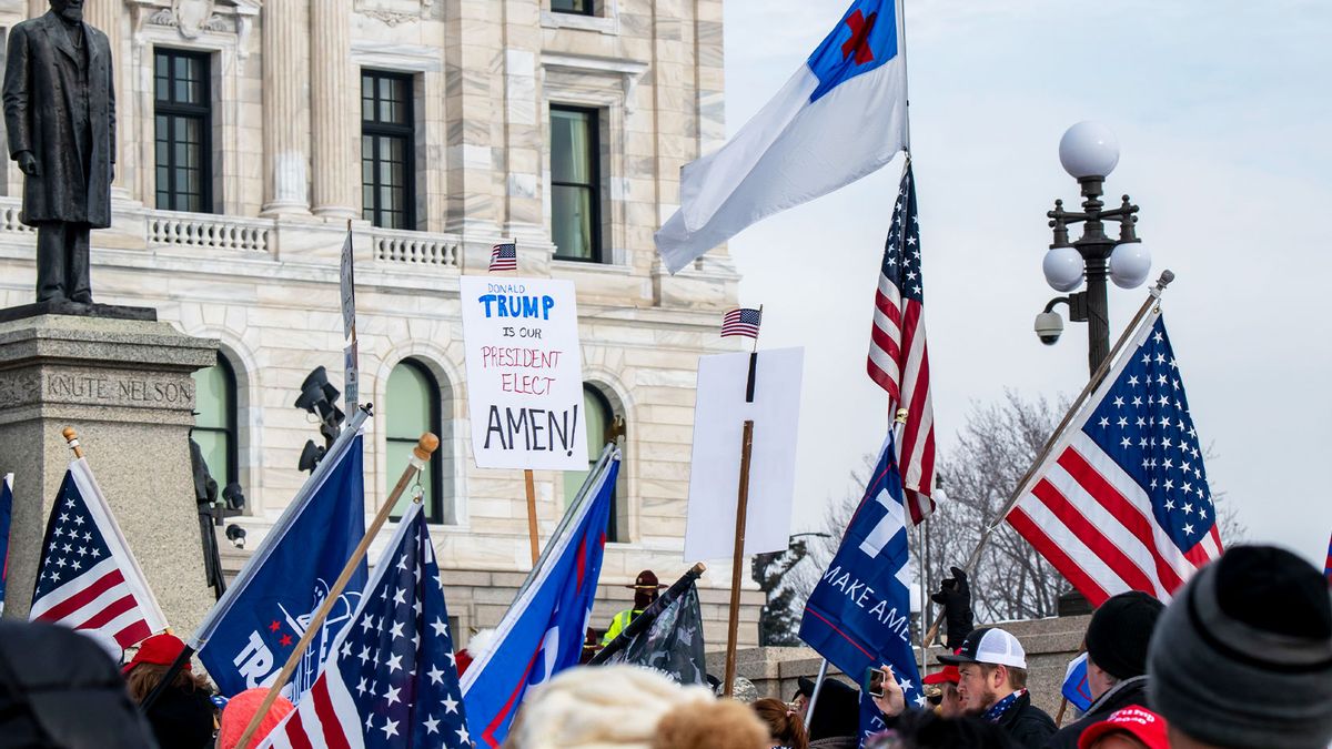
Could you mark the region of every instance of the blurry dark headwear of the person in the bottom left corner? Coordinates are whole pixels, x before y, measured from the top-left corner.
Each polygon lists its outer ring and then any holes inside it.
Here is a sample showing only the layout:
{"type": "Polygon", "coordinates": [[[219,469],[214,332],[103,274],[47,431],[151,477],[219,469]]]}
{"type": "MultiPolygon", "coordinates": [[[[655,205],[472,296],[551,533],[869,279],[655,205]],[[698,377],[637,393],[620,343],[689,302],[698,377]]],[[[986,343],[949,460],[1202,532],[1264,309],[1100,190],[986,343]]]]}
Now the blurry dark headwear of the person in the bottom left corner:
{"type": "Polygon", "coordinates": [[[156,749],[120,670],[52,624],[0,621],[0,746],[156,749]]]}

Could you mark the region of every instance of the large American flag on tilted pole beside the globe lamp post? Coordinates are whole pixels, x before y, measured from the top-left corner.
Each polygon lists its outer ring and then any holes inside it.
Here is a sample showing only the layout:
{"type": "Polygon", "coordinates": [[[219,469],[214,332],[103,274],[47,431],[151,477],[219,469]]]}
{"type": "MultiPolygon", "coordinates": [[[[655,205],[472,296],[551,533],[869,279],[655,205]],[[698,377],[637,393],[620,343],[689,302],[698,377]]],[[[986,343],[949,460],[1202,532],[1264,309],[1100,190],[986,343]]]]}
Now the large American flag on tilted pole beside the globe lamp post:
{"type": "Polygon", "coordinates": [[[1059,436],[1008,522],[1094,606],[1168,601],[1221,554],[1197,430],[1160,312],[1059,436]]]}

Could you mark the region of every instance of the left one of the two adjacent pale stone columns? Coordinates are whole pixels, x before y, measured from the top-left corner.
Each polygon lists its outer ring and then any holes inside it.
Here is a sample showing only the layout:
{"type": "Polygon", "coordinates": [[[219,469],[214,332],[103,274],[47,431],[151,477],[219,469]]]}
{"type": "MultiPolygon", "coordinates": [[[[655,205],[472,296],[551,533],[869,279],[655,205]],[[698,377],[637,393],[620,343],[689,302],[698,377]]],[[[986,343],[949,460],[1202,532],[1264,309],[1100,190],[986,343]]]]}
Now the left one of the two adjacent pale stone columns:
{"type": "Polygon", "coordinates": [[[265,3],[264,55],[264,216],[310,212],[309,49],[302,24],[306,4],[265,3]]]}

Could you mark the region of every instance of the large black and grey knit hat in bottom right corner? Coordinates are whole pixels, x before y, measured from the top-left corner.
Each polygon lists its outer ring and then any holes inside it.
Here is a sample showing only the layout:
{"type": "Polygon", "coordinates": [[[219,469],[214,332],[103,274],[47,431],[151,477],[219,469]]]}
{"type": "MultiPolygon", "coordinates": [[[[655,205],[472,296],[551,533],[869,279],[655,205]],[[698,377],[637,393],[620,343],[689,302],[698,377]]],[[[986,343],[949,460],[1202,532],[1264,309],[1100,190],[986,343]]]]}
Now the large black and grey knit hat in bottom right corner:
{"type": "Polygon", "coordinates": [[[1313,565],[1236,546],[1189,580],[1148,654],[1152,706],[1191,738],[1232,749],[1332,741],[1332,593],[1313,565]]]}

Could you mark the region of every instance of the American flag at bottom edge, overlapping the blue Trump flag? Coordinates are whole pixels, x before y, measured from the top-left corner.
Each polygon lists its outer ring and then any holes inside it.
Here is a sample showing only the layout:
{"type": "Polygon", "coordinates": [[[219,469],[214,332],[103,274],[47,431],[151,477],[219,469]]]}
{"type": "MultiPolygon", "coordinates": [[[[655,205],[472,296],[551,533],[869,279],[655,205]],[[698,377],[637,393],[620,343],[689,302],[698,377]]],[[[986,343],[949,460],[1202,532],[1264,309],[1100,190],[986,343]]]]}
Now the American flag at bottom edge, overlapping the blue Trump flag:
{"type": "Polygon", "coordinates": [[[261,749],[466,746],[444,582],[421,505],[384,552],[324,673],[261,749]]]}

